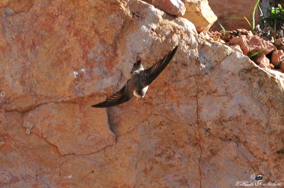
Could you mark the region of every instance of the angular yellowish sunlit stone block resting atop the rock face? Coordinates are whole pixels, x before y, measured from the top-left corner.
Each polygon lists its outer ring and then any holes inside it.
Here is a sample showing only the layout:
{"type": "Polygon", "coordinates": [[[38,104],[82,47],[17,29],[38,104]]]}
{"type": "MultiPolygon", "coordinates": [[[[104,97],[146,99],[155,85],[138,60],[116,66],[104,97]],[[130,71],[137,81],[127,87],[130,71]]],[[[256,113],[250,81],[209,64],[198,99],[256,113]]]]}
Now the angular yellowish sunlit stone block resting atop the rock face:
{"type": "Polygon", "coordinates": [[[186,8],[183,17],[195,25],[198,33],[207,32],[217,20],[207,0],[182,0],[182,2],[186,8]]]}

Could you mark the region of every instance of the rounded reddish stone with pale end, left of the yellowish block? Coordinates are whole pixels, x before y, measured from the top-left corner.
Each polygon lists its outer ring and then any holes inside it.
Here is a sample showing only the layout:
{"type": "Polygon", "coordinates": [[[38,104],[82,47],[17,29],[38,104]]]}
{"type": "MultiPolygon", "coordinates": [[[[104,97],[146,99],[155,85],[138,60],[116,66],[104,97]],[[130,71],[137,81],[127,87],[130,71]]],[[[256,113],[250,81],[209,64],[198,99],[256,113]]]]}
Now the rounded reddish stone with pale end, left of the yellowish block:
{"type": "Polygon", "coordinates": [[[180,0],[153,0],[152,5],[168,14],[183,16],[186,9],[180,0]]]}

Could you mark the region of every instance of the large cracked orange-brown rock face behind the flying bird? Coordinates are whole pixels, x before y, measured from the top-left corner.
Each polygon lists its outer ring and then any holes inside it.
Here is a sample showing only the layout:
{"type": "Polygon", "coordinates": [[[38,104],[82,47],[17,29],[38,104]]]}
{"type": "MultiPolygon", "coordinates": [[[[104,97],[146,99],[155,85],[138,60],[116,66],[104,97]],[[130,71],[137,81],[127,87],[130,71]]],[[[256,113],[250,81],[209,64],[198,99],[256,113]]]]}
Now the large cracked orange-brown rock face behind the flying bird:
{"type": "Polygon", "coordinates": [[[136,0],[0,17],[0,187],[284,183],[283,80],[184,18],[136,0]],[[177,44],[144,99],[91,108],[177,44]]]}

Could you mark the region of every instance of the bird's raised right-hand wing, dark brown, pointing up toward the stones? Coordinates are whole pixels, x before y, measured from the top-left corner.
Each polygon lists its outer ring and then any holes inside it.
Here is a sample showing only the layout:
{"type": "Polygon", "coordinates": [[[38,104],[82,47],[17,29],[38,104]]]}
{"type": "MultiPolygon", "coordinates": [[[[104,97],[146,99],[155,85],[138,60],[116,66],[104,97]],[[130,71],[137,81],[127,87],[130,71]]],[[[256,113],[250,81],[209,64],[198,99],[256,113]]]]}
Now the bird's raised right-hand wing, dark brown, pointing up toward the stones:
{"type": "MultiPolygon", "coordinates": [[[[149,85],[152,83],[160,74],[161,72],[166,68],[166,66],[170,63],[171,59],[174,57],[174,54],[177,51],[178,45],[168,53],[163,59],[160,61],[157,61],[152,67],[143,70],[146,74],[146,85],[149,85]]],[[[140,71],[141,72],[141,71],[140,71]]]]}

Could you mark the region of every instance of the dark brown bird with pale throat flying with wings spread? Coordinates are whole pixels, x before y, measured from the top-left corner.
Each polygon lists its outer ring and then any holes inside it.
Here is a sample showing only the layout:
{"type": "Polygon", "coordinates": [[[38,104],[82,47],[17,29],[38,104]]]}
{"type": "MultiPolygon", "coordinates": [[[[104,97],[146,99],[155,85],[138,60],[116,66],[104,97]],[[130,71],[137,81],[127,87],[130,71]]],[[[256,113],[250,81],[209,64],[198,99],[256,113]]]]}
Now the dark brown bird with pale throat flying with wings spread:
{"type": "Polygon", "coordinates": [[[148,86],[161,74],[177,52],[178,45],[152,67],[144,69],[141,60],[133,64],[130,79],[120,91],[114,93],[104,102],[92,105],[94,108],[108,108],[129,101],[134,96],[144,98],[148,86]]]}

